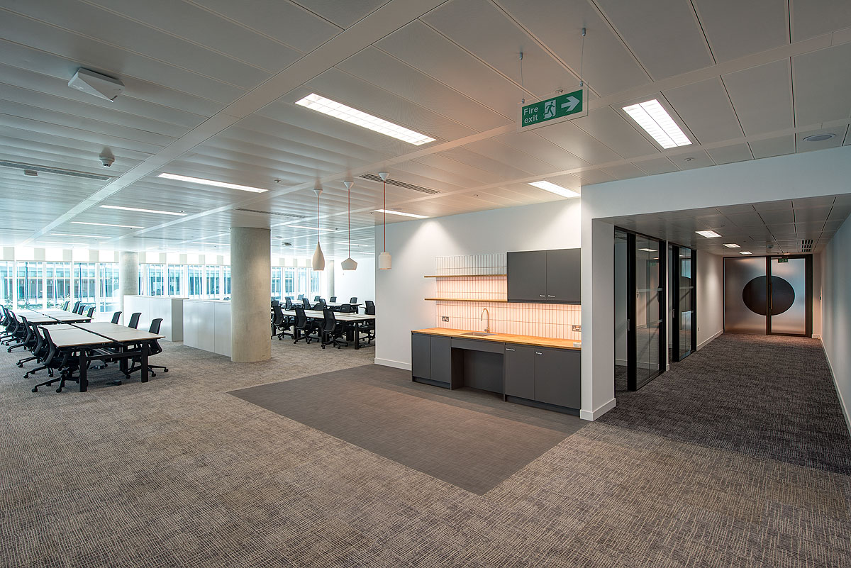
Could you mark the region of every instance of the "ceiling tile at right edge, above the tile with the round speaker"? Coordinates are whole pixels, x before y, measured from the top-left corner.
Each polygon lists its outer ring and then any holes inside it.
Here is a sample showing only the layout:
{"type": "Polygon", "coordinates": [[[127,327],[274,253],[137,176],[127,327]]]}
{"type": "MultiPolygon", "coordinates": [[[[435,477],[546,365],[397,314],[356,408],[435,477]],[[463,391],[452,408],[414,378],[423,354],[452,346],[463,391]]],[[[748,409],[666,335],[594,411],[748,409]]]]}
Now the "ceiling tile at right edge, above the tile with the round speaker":
{"type": "Polygon", "coordinates": [[[820,49],[792,59],[795,118],[799,126],[851,114],[851,43],[820,49]]]}

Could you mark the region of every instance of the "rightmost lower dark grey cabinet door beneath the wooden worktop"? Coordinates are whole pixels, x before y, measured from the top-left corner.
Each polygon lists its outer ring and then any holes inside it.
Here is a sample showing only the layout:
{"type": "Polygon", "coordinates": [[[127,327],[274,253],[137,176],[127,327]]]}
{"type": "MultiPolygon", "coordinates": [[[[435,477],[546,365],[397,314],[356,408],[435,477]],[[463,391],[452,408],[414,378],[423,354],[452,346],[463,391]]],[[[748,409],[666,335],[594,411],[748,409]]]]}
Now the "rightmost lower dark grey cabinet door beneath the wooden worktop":
{"type": "Polygon", "coordinates": [[[572,349],[534,348],[534,400],[580,408],[582,405],[582,352],[572,349]]]}

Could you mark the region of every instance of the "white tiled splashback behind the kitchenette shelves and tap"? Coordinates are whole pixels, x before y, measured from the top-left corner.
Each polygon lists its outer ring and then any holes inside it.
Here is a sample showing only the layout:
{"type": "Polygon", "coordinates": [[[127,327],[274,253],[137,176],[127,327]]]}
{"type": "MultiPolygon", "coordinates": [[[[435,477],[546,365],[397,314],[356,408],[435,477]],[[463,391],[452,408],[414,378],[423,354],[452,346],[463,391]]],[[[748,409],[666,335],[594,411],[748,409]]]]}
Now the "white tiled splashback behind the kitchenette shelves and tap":
{"type": "MultiPolygon", "coordinates": [[[[438,257],[436,275],[505,274],[505,254],[471,254],[460,257],[438,257]]],[[[435,298],[471,298],[505,300],[505,276],[477,278],[435,278],[435,298]]],[[[435,302],[435,327],[483,331],[480,320],[483,308],[490,314],[490,331],[515,333],[543,338],[580,341],[581,306],[574,304],[505,304],[499,302],[435,302]],[[443,321],[448,316],[449,321],[443,321]]]]}

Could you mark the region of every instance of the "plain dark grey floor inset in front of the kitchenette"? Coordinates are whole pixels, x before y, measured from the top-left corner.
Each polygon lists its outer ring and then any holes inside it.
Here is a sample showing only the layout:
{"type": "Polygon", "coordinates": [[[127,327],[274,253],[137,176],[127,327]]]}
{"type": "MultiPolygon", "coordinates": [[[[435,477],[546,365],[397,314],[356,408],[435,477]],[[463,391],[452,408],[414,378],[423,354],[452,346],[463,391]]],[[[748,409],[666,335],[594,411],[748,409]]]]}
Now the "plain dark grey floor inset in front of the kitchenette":
{"type": "Polygon", "coordinates": [[[477,495],[583,425],[481,391],[411,383],[409,372],[377,365],[231,395],[477,495]]]}

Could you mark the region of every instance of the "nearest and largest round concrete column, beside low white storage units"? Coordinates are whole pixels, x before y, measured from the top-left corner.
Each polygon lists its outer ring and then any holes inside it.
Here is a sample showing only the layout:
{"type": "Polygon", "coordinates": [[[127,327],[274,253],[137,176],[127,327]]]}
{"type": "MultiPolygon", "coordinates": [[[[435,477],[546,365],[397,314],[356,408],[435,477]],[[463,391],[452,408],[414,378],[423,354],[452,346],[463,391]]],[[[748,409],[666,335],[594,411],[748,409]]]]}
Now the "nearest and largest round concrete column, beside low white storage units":
{"type": "Polygon", "coordinates": [[[231,228],[231,361],[271,358],[271,230],[231,228]]]}

